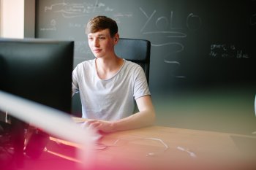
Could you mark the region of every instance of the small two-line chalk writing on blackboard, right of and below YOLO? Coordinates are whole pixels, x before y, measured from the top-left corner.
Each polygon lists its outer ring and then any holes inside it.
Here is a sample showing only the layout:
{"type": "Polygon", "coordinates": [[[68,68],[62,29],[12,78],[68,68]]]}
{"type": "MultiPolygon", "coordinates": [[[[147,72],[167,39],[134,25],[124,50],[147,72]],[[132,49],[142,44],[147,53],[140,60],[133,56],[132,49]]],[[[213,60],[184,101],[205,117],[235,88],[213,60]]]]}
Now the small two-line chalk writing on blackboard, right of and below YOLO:
{"type": "Polygon", "coordinates": [[[213,44],[210,47],[211,58],[249,58],[244,50],[238,49],[236,45],[213,44]]]}

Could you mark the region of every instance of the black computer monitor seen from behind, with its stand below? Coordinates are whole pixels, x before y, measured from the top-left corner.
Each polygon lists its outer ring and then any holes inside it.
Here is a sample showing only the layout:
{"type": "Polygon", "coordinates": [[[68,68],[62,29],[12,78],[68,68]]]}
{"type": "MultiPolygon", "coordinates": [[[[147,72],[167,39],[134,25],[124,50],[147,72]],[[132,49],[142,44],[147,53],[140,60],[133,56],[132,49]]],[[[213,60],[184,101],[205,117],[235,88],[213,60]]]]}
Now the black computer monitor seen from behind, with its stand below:
{"type": "MultiPolygon", "coordinates": [[[[0,90],[71,113],[73,53],[72,41],[0,39],[0,90]]],[[[21,164],[25,123],[12,117],[11,125],[14,158],[21,164]]]]}

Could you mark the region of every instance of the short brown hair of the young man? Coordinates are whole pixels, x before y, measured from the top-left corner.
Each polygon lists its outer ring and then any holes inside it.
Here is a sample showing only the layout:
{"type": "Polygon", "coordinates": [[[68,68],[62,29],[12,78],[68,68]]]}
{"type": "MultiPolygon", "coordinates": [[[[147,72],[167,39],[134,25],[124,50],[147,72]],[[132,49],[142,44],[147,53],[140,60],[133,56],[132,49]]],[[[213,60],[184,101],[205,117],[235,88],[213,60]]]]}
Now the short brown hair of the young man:
{"type": "Polygon", "coordinates": [[[116,21],[106,16],[96,16],[91,18],[86,26],[86,34],[95,33],[103,29],[109,29],[110,36],[113,37],[118,32],[116,21]]]}

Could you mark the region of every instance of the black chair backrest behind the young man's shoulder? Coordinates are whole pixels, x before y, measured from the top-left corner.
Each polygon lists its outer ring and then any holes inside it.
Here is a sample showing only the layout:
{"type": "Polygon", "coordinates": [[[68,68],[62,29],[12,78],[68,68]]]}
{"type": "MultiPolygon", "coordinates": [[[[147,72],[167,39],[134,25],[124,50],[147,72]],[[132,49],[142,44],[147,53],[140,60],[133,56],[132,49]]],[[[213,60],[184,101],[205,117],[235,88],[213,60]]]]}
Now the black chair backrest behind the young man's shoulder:
{"type": "Polygon", "coordinates": [[[148,40],[120,38],[115,50],[119,57],[138,63],[143,68],[149,82],[151,43],[148,40]]]}

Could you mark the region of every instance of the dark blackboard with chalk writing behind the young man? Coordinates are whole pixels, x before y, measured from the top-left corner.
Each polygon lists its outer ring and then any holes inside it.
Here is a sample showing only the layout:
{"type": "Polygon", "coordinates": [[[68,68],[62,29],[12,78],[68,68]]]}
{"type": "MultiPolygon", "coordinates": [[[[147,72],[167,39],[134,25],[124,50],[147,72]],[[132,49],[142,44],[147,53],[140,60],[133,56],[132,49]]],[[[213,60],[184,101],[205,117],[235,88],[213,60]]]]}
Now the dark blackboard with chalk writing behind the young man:
{"type": "Polygon", "coordinates": [[[36,37],[75,40],[76,66],[94,58],[84,28],[95,15],[116,20],[121,37],[151,41],[152,94],[256,84],[255,0],[37,0],[36,37]]]}

